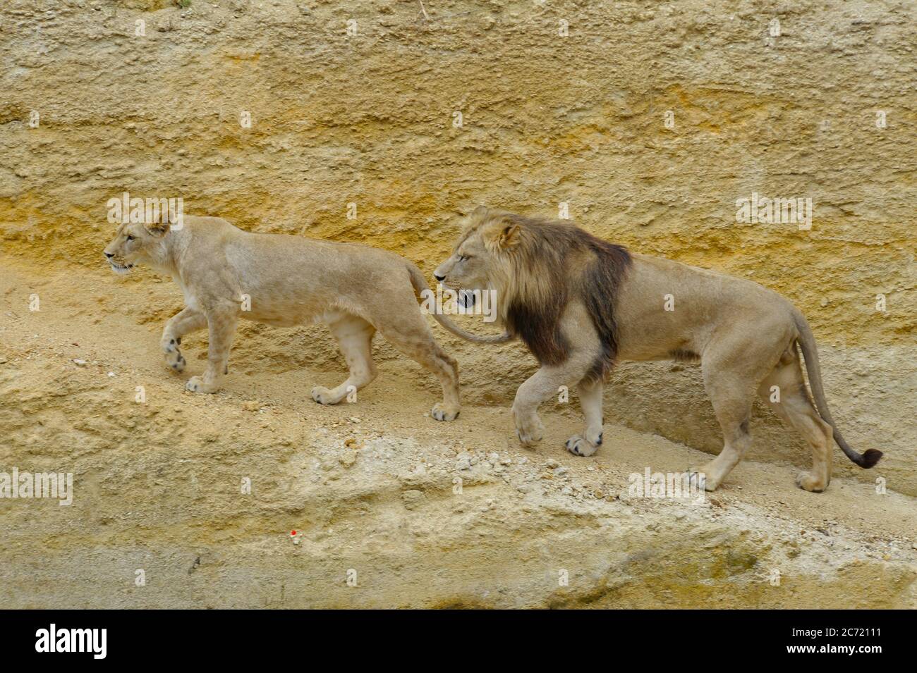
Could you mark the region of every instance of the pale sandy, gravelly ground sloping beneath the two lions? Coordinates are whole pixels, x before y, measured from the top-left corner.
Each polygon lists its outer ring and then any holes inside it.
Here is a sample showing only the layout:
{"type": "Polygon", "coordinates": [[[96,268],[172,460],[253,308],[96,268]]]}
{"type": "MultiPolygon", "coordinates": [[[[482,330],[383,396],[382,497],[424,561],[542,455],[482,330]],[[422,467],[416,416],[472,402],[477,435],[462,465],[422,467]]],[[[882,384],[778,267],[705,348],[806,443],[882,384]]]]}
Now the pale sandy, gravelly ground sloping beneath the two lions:
{"type": "Polygon", "coordinates": [[[321,327],[244,326],[226,388],[194,395],[203,335],[172,374],[149,308],[180,308],[170,282],[0,262],[0,465],[74,480],[69,507],[0,500],[8,607],[917,605],[911,496],[836,476],[809,494],[746,461],[703,505],[631,497],[629,473],[706,455],[610,426],[576,458],[575,405],[545,407],[536,451],[504,403],[437,423],[433,377],[378,338],[380,378],[319,407],[311,386],[343,375],[321,327]]]}

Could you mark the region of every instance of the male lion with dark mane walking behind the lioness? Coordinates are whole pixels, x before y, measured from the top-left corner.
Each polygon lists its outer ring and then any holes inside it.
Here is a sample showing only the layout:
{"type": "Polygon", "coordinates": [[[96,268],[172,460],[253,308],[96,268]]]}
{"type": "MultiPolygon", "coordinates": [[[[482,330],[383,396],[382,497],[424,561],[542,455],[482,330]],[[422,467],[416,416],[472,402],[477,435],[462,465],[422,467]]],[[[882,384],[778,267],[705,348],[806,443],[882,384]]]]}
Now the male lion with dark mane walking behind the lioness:
{"type": "Polygon", "coordinates": [[[513,403],[525,446],[541,440],[537,407],[560,385],[578,386],[586,417],[567,448],[591,456],[602,444],[602,380],[615,360],[700,359],[724,434],[722,452],[696,472],[707,490],[723,482],[751,443],[756,391],[812,447],[812,471],[797,479],[807,491],[823,491],[831,481],[832,438],[860,467],[882,456],[875,449],[861,455],[841,437],[809,324],[790,301],[757,283],[635,255],[569,223],[483,206],[467,218],[455,252],[434,275],[448,288],[468,290],[461,294],[466,300],[474,299],[473,290],[495,290],[498,318],[541,364],[513,403]],[[772,386],[779,401],[771,400],[772,386]]]}

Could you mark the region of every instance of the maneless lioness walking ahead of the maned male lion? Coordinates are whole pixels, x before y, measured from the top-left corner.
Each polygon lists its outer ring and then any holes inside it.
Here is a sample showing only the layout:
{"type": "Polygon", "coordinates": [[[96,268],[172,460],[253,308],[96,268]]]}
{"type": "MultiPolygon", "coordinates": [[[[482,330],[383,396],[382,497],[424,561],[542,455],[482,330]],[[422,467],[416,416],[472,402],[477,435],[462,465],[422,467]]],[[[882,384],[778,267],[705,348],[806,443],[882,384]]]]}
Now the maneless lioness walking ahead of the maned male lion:
{"type": "MultiPolygon", "coordinates": [[[[171,275],[184,293],[185,308],[166,322],[161,347],[166,364],[184,369],[182,336],[207,328],[204,376],[185,387],[213,393],[227,373],[229,346],[238,319],[290,327],[325,322],[349,367],[336,388],[315,386],[319,404],[337,404],[376,377],[370,342],[376,330],[399,351],[436,374],[443,401],[436,420],[458,417],[458,364],[439,348],[421,314],[415,292],[428,290],[423,275],[403,257],[359,244],[330,243],[275,233],[244,232],[218,217],[185,217],[179,229],[165,224],[121,224],[105,258],[117,273],[146,263],[171,275]]],[[[477,337],[435,314],[447,330],[477,337]]]]}

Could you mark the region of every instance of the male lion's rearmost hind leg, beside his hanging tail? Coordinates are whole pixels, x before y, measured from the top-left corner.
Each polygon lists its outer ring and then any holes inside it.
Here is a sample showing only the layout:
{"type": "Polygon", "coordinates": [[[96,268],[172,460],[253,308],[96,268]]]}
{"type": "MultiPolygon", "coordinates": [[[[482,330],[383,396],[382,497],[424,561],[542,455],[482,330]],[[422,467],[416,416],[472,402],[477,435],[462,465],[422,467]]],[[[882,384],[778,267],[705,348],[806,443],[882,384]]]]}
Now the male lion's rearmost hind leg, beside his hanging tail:
{"type": "Polygon", "coordinates": [[[812,449],[812,471],[800,472],[796,483],[806,491],[820,492],[831,482],[834,432],[819,415],[805,389],[795,346],[758,388],[758,395],[790,428],[796,429],[812,449]]]}

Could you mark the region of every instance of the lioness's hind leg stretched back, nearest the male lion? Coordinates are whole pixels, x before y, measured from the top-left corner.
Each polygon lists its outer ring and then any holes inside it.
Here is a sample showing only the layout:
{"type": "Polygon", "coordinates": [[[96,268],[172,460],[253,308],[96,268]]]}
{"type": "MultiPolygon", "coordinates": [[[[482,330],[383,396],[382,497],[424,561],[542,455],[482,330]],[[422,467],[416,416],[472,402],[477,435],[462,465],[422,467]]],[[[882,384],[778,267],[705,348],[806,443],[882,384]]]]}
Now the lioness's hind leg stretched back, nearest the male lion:
{"type": "MultiPolygon", "coordinates": [[[[414,302],[414,299],[411,299],[414,302]]],[[[419,310],[410,317],[402,315],[397,323],[386,322],[379,326],[382,336],[399,351],[436,374],[443,386],[443,401],[430,410],[436,420],[458,418],[461,404],[458,400],[458,363],[439,347],[433,333],[419,310]]]]}

